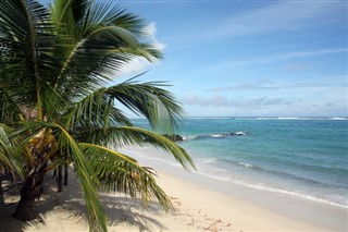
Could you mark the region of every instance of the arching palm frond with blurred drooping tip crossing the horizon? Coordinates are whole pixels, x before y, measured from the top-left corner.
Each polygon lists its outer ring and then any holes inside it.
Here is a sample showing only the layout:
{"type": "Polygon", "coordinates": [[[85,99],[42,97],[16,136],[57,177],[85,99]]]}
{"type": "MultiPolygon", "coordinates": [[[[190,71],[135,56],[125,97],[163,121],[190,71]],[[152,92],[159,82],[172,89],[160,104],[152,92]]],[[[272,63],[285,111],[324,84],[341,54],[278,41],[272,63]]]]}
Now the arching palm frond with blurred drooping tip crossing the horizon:
{"type": "MultiPolygon", "coordinates": [[[[178,125],[182,108],[165,89],[164,83],[137,83],[133,80],[109,88],[100,88],[75,103],[64,119],[71,125],[130,125],[114,107],[114,99],[133,112],[145,115],[151,126],[173,132],[178,125]],[[110,121],[108,120],[110,119],[110,121]]],[[[73,126],[74,127],[74,126],[73,126]]]]}

